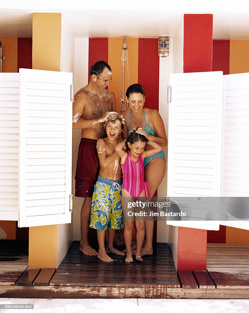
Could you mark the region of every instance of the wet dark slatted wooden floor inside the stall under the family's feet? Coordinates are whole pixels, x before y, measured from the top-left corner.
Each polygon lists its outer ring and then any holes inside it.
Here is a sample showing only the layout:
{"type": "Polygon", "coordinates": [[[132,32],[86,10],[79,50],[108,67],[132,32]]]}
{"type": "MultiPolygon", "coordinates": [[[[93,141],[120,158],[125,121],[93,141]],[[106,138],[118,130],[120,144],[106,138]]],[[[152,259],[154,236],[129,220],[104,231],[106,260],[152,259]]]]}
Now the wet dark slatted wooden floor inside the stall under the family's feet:
{"type": "Polygon", "coordinates": [[[125,256],[109,254],[113,262],[102,262],[97,256],[86,256],[79,251],[79,242],[71,245],[64,260],[50,281],[52,286],[165,286],[179,288],[168,244],[158,243],[153,255],[143,262],[125,262],[125,256]]]}

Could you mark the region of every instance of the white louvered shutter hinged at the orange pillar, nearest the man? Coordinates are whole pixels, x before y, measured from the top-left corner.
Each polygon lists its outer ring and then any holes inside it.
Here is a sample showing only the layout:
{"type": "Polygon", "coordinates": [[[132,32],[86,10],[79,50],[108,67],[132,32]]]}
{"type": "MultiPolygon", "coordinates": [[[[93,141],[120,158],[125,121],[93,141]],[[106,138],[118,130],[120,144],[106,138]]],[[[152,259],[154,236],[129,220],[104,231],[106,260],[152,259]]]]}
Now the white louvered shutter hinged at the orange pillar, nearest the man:
{"type": "Polygon", "coordinates": [[[72,73],[20,69],[19,227],[71,222],[72,73]]]}

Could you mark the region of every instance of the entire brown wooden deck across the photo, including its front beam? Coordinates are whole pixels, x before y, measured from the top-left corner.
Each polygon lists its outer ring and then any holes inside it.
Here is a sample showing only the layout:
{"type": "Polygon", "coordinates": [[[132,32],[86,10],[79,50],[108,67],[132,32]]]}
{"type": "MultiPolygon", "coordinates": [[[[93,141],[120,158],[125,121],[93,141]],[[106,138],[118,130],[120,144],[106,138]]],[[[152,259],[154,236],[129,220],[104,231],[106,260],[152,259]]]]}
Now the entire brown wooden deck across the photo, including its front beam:
{"type": "MultiPolygon", "coordinates": [[[[1,263],[6,266],[17,266],[8,264],[11,255],[23,256],[16,250],[8,256],[4,253],[1,263]]],[[[207,270],[203,271],[176,273],[165,243],[156,244],[153,255],[144,256],[142,263],[111,257],[113,262],[104,263],[96,256],[85,256],[79,242],[73,242],[57,271],[26,269],[26,263],[20,264],[25,265],[20,275],[13,274],[16,267],[12,272],[8,267],[8,274],[1,273],[0,297],[249,299],[248,244],[207,244],[207,270]],[[4,275],[13,275],[13,280],[4,275]]]]}

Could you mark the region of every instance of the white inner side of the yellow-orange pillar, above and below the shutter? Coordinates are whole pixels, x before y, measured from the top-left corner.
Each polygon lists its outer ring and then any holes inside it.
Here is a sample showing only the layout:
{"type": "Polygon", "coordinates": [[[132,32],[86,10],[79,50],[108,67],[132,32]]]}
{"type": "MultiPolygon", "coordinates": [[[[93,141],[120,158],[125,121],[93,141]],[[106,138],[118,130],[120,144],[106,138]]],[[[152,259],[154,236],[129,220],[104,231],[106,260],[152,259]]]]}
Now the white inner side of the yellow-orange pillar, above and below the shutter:
{"type": "MultiPolygon", "coordinates": [[[[75,38],[70,32],[64,15],[61,15],[61,54],[60,71],[73,72],[75,59],[75,38]]],[[[64,259],[73,240],[73,227],[71,224],[60,224],[57,228],[57,267],[64,259]]]]}

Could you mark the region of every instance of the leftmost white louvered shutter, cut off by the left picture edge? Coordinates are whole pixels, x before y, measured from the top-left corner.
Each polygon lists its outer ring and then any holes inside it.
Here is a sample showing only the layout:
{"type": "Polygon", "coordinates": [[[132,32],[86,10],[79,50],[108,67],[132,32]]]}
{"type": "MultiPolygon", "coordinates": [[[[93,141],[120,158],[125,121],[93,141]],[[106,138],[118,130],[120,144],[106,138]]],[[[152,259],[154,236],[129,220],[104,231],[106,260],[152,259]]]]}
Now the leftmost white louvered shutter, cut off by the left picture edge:
{"type": "Polygon", "coordinates": [[[19,74],[0,73],[0,220],[18,220],[19,74]]]}

